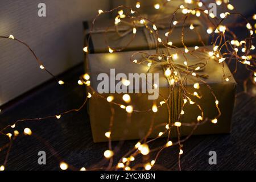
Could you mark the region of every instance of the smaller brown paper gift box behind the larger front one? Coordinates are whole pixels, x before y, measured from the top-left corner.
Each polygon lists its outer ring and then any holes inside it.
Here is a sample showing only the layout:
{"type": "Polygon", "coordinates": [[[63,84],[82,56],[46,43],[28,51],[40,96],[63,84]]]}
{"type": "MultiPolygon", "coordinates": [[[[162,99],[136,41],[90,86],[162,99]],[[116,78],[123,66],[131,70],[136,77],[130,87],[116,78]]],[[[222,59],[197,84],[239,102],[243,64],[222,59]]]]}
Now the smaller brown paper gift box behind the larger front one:
{"type": "MultiPolygon", "coordinates": [[[[157,15],[156,15],[157,16],[157,15]]],[[[176,15],[175,20],[179,20],[183,17],[183,15],[176,15]]],[[[154,19],[154,18],[153,18],[154,19]]],[[[172,42],[172,46],[176,47],[183,47],[183,44],[181,43],[181,32],[182,32],[182,23],[183,21],[179,22],[174,27],[172,33],[168,36],[169,41],[172,42]]],[[[166,39],[166,32],[169,30],[170,26],[170,17],[165,20],[158,20],[158,23],[156,23],[158,28],[158,36],[162,39],[166,39]],[[160,24],[160,25],[159,25],[160,24]],[[166,28],[165,28],[166,27],[166,28]]],[[[85,46],[89,46],[89,52],[90,53],[103,53],[108,52],[108,46],[119,49],[126,47],[123,51],[137,51],[137,50],[146,50],[146,49],[152,49],[152,47],[149,46],[148,40],[147,40],[147,32],[144,31],[143,28],[137,28],[137,33],[135,35],[135,38],[133,41],[127,46],[127,44],[130,42],[131,38],[133,37],[133,33],[127,34],[126,36],[119,37],[117,32],[115,31],[109,31],[106,34],[105,38],[105,30],[109,27],[108,30],[114,30],[114,19],[111,20],[96,20],[93,32],[91,34],[91,37],[88,40],[89,31],[91,30],[92,24],[88,22],[84,22],[84,28],[85,28],[85,46]],[[106,41],[108,42],[108,45],[106,45],[106,41]]],[[[129,26],[119,26],[120,32],[124,32],[127,29],[133,27],[129,26]]],[[[152,28],[152,27],[151,27],[152,28]]],[[[187,23],[184,24],[184,43],[186,46],[201,46],[202,42],[207,45],[208,44],[209,36],[207,34],[207,28],[202,23],[202,21],[199,21],[198,19],[189,19],[187,20],[187,23]],[[194,30],[190,30],[189,26],[190,24],[193,24],[195,27],[194,30]],[[200,37],[199,37],[200,36],[200,37]]]]}

